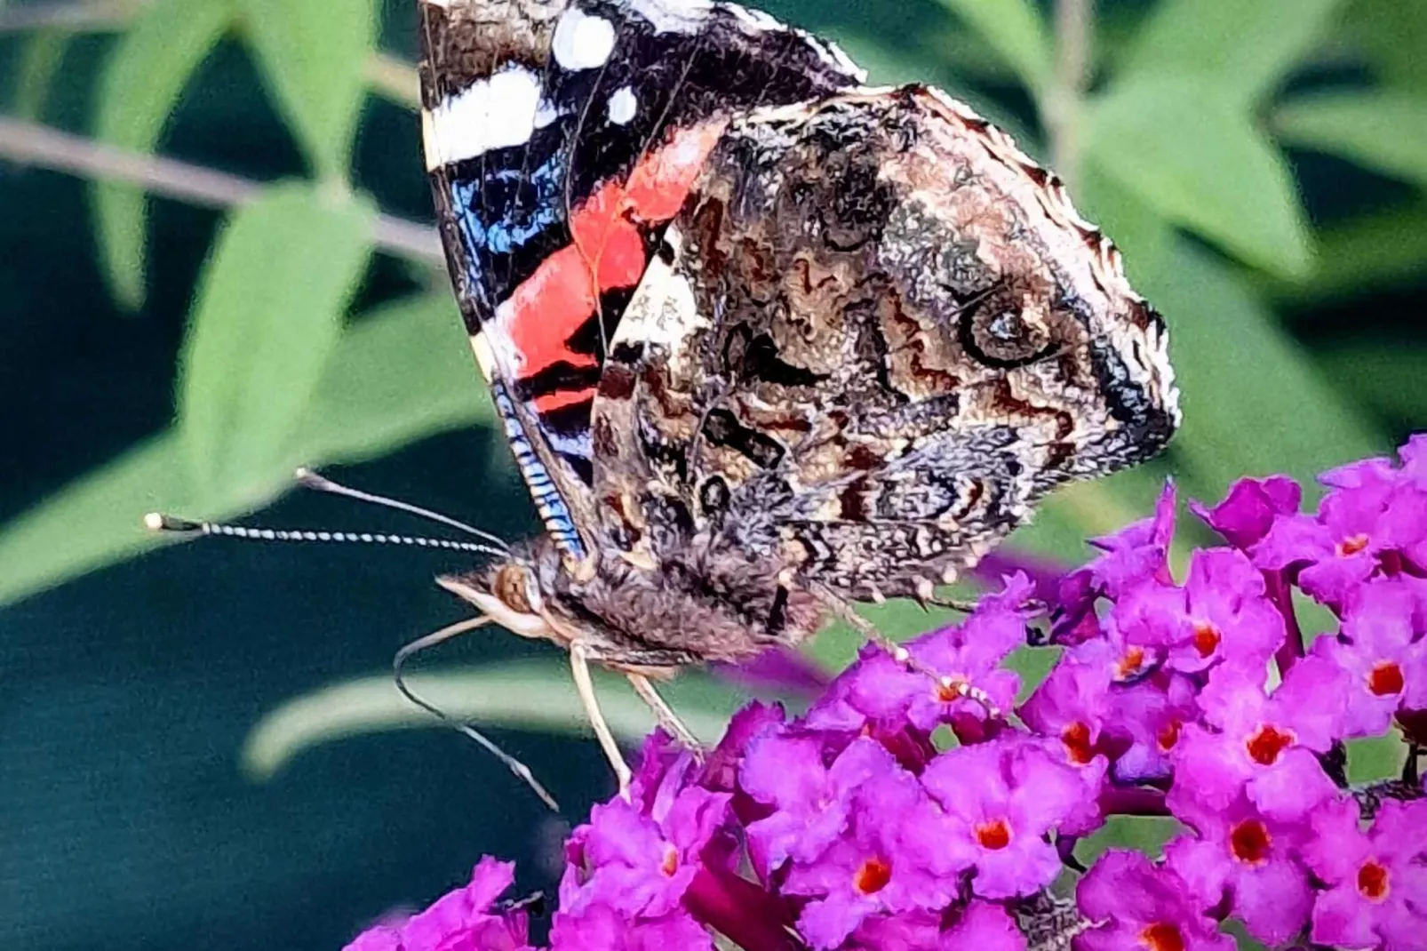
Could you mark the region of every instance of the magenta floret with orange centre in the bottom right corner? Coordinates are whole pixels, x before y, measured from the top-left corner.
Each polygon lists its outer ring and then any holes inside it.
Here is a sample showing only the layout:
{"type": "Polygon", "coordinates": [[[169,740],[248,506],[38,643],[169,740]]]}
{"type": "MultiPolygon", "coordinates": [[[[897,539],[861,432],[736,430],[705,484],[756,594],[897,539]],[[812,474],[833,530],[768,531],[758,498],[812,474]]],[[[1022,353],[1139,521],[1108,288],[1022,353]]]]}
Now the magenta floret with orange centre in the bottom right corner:
{"type": "Polygon", "coordinates": [[[1313,817],[1309,868],[1327,884],[1313,905],[1313,941],[1340,948],[1416,951],[1427,935],[1427,800],[1383,802],[1359,828],[1357,802],[1313,817]]]}

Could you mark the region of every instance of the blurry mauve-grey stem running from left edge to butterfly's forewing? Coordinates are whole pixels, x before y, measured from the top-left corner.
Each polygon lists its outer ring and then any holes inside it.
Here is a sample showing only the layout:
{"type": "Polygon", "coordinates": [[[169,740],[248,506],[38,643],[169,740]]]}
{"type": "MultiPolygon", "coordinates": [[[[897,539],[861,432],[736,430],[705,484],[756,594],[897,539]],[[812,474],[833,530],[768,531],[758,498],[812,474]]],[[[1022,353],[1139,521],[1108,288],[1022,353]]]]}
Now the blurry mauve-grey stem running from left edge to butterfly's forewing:
{"type": "MultiPolygon", "coordinates": [[[[21,166],[133,184],[166,198],[227,208],[248,204],[263,191],[263,183],[213,168],[146,156],[106,146],[70,133],[0,117],[0,158],[21,166]]],[[[372,240],[382,251],[418,261],[440,261],[441,241],[434,228],[415,221],[377,216],[372,240]]]]}

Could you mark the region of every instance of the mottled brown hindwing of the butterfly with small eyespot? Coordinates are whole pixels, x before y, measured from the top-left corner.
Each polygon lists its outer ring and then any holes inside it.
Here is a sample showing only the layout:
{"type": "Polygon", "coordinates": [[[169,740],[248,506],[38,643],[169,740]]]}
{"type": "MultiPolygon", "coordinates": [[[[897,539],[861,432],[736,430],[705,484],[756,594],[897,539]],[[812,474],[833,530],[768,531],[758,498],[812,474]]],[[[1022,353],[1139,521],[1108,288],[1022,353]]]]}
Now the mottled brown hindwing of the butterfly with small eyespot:
{"type": "Polygon", "coordinates": [[[925,594],[1179,421],[1160,317],[1059,181],[920,87],[731,124],[595,401],[609,537],[925,594]]]}

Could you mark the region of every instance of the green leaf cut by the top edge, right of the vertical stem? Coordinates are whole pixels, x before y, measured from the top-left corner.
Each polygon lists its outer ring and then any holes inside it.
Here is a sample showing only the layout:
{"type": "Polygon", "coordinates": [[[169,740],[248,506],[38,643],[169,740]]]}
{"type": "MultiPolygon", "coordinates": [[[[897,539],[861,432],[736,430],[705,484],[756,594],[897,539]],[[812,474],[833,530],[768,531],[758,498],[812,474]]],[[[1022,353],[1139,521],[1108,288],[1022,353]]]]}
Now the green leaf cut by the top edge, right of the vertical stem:
{"type": "Polygon", "coordinates": [[[1117,77],[1127,83],[1189,77],[1223,87],[1240,104],[1253,103],[1317,46],[1337,6],[1339,0],[1160,0],[1117,77]]]}

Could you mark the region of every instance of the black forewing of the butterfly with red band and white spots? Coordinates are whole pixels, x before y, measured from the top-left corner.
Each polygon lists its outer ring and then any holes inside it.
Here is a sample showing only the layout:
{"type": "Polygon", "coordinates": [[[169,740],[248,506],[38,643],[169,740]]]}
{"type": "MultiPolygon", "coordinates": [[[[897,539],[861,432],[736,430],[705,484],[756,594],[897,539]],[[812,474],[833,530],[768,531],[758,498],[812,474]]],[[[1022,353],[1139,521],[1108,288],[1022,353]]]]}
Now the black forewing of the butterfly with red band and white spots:
{"type": "Polygon", "coordinates": [[[735,114],[848,89],[733,4],[422,0],[422,133],[472,348],[547,531],[591,544],[591,408],[625,307],[735,114]]]}

